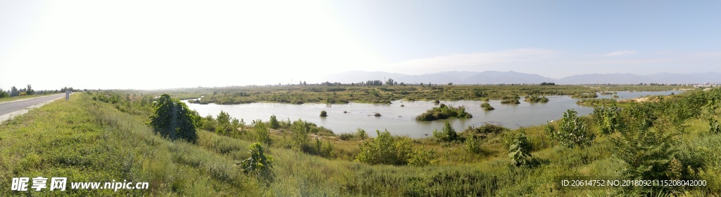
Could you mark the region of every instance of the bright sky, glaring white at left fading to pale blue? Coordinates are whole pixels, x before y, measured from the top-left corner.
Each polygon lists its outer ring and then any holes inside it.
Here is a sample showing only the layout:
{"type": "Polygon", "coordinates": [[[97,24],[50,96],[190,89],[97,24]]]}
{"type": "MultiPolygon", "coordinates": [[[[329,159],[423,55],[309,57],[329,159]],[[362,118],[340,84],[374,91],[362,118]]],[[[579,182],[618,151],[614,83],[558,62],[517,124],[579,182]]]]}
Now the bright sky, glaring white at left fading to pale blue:
{"type": "Polygon", "coordinates": [[[721,1],[6,1],[0,88],[721,73],[721,1]],[[369,79],[371,80],[371,79],[369,79]]]}

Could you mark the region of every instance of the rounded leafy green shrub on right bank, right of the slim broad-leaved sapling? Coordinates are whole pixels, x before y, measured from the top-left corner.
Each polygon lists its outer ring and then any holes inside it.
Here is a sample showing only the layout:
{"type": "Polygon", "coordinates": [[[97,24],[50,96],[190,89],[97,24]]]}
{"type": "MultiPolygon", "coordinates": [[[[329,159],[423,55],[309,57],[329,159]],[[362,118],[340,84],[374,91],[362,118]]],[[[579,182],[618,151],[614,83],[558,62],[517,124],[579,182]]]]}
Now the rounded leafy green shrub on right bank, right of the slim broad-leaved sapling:
{"type": "Polygon", "coordinates": [[[546,133],[552,139],[557,140],[561,145],[566,147],[588,147],[596,134],[588,131],[588,126],[583,119],[580,119],[575,110],[569,109],[563,113],[563,118],[559,121],[559,129],[555,129],[552,124],[547,124],[546,133]]]}

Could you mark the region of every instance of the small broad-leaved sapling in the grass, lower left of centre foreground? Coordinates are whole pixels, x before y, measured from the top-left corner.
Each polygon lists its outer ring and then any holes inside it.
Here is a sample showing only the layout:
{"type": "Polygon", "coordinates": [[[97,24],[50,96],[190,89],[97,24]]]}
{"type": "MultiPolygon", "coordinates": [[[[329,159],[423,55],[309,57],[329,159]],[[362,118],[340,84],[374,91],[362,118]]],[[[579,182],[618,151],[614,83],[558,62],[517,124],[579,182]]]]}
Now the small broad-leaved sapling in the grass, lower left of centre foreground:
{"type": "Polygon", "coordinates": [[[273,177],[273,155],[266,155],[260,142],[249,146],[250,157],[240,162],[243,173],[257,175],[259,178],[273,177]]]}

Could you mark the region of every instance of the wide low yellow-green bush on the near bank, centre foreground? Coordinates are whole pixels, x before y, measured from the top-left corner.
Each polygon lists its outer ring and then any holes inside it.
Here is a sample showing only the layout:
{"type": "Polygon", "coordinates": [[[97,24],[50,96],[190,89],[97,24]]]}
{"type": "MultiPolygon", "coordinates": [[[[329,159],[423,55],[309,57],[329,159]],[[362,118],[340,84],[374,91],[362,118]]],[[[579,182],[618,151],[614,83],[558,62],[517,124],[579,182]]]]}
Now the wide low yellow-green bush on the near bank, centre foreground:
{"type": "Polygon", "coordinates": [[[376,130],[376,134],[378,137],[375,139],[363,141],[359,147],[361,152],[358,152],[355,160],[385,165],[407,165],[410,162],[414,162],[414,165],[423,165],[425,161],[433,160],[430,158],[433,157],[433,152],[413,150],[412,142],[406,137],[393,137],[388,130],[385,132],[376,130]]]}

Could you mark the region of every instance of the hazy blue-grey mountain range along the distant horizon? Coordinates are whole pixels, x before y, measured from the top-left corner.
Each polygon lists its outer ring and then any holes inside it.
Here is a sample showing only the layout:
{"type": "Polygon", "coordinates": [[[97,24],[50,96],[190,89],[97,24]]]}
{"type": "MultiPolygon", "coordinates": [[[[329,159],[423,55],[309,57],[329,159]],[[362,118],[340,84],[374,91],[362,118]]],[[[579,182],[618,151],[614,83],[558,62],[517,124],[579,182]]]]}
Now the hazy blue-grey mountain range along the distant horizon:
{"type": "Polygon", "coordinates": [[[585,74],[572,75],[565,78],[549,78],[536,74],[518,73],[514,71],[446,71],[423,75],[404,75],[399,73],[348,71],[326,75],[325,81],[340,83],[358,83],[368,80],[386,81],[392,78],[398,83],[434,83],[434,84],[510,84],[510,83],[542,83],[557,84],[638,84],[638,83],[718,83],[720,73],[656,73],[653,75],[637,75],[632,73],[585,74]]]}

